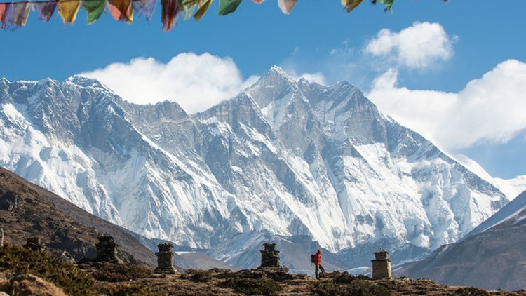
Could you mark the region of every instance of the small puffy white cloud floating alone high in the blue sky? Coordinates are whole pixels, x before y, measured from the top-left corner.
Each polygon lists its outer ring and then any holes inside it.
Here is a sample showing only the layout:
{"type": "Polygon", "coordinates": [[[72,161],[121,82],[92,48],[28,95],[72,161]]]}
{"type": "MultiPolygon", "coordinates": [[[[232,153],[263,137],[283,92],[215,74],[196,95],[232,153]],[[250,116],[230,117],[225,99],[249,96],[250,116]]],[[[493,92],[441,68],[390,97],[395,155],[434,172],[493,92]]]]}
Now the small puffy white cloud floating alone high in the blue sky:
{"type": "Polygon", "coordinates": [[[386,58],[398,66],[424,69],[453,55],[452,44],[457,37],[447,36],[442,25],[414,22],[400,32],[382,29],[365,47],[365,52],[386,58]]]}

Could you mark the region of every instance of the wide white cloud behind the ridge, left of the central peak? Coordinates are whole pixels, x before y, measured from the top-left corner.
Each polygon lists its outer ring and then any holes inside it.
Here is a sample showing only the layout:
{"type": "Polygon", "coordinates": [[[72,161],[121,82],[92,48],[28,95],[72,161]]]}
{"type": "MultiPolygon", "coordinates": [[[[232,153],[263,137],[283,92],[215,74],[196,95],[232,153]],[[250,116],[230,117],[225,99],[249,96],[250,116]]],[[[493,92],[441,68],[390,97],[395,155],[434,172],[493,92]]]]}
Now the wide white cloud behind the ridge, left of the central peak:
{"type": "Polygon", "coordinates": [[[100,80],[128,102],[171,100],[190,113],[234,97],[257,80],[255,76],[243,80],[231,58],[210,53],[180,53],[166,64],[154,58],[135,58],[79,75],[100,80]]]}

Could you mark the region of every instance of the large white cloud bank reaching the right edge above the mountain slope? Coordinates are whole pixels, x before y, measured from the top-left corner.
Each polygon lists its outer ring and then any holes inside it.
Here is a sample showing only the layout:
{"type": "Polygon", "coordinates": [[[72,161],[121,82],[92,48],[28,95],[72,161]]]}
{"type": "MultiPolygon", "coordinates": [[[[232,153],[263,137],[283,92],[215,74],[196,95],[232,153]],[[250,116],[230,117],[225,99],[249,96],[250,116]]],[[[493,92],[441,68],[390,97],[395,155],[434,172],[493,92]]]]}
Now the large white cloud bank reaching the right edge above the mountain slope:
{"type": "Polygon", "coordinates": [[[506,60],[470,81],[459,93],[396,86],[390,69],[375,79],[367,95],[390,114],[446,149],[477,142],[507,142],[526,128],[526,64],[506,60]]]}

